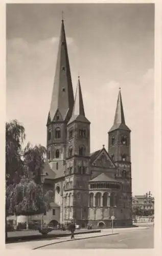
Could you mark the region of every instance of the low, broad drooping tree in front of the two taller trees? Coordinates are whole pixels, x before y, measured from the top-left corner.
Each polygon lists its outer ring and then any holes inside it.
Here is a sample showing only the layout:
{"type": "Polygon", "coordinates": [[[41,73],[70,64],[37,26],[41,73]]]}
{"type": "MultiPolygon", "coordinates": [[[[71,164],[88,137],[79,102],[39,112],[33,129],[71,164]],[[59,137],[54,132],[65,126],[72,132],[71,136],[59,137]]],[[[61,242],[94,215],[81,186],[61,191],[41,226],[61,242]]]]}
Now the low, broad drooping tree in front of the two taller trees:
{"type": "Polygon", "coordinates": [[[49,190],[43,195],[41,185],[36,184],[30,177],[23,177],[18,184],[14,183],[6,187],[6,218],[9,215],[43,214],[50,209],[52,196],[53,191],[49,190]]]}

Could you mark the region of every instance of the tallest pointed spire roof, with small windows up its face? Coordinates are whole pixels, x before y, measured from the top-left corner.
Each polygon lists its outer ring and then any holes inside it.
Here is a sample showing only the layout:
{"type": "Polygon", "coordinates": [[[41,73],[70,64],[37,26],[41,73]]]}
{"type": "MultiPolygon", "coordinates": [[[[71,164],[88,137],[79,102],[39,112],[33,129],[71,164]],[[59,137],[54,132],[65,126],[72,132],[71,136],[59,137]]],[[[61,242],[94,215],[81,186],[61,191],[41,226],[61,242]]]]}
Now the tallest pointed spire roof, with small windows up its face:
{"type": "Polygon", "coordinates": [[[57,111],[59,111],[63,120],[68,121],[72,115],[73,105],[74,93],[67,53],[64,21],[62,19],[54,87],[49,112],[51,121],[53,121],[57,111]]]}

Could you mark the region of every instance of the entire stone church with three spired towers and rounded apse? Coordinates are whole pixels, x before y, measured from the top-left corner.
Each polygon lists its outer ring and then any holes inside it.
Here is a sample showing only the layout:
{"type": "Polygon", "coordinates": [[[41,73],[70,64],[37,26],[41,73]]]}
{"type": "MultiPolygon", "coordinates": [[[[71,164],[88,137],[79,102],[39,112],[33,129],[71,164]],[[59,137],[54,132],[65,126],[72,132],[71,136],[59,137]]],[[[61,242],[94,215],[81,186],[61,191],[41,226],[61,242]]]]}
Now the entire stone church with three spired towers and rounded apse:
{"type": "Polygon", "coordinates": [[[90,152],[90,120],[79,77],[74,97],[62,20],[43,170],[44,189],[54,191],[51,210],[44,214],[47,224],[74,220],[82,227],[108,227],[114,216],[115,226],[132,225],[130,132],[119,90],[108,152],[104,145],[90,152]]]}

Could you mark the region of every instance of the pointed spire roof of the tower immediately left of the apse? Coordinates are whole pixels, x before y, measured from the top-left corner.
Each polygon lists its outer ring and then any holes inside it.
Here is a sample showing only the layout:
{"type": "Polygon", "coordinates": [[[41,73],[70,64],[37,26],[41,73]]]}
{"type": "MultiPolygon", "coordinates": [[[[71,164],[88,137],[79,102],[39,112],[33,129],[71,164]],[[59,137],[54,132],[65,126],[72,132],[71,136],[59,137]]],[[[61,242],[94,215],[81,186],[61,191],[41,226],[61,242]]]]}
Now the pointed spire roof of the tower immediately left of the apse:
{"type": "Polygon", "coordinates": [[[88,119],[85,117],[79,76],[78,76],[78,84],[77,84],[77,90],[76,90],[76,95],[75,95],[73,113],[72,113],[72,117],[71,117],[70,121],[68,122],[68,124],[72,123],[73,121],[81,121],[81,122],[89,123],[88,119]]]}

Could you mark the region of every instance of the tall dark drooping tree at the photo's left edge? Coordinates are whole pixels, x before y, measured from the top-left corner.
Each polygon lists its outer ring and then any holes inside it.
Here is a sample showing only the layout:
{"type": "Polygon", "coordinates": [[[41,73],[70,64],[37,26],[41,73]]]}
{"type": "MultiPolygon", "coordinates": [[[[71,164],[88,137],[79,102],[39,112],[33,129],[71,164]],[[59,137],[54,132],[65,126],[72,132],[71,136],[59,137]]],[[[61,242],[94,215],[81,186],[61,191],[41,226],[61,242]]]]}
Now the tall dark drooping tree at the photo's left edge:
{"type": "Polygon", "coordinates": [[[21,160],[25,128],[17,120],[6,122],[6,180],[7,184],[18,183],[23,172],[21,160]]]}

